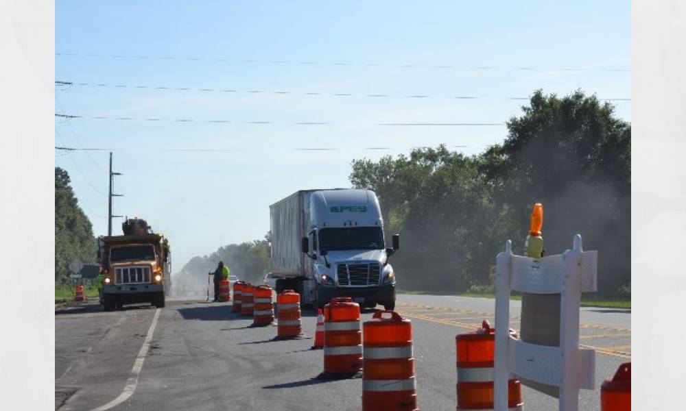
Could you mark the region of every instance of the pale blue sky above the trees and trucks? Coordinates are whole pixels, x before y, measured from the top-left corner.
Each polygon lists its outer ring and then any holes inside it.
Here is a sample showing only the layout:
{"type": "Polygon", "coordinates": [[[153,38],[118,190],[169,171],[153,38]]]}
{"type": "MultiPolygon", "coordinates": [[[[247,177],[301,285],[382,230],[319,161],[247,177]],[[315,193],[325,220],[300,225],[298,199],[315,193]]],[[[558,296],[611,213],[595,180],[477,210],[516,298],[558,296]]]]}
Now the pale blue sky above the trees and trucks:
{"type": "MultiPolygon", "coordinates": [[[[56,113],[83,116],[56,119],[56,145],[113,149],[115,214],[169,236],[175,270],[261,238],[291,192],[350,186],[353,158],[506,135],[379,123],[504,123],[537,88],[631,93],[629,1],[60,0],[55,48],[56,80],[75,83],[56,113]]],[[[55,162],[104,234],[107,151],[55,162]]]]}

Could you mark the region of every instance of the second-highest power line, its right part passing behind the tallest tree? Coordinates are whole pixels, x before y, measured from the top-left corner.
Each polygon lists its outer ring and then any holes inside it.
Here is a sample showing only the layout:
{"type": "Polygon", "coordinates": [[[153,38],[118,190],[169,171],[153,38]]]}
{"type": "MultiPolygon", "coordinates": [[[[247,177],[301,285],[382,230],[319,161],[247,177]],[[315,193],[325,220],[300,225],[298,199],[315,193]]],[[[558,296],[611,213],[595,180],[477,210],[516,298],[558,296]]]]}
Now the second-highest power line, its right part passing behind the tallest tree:
{"type": "MultiPolygon", "coordinates": [[[[107,88],[132,88],[132,89],[147,89],[147,90],[171,90],[171,91],[200,91],[200,92],[221,92],[224,94],[272,94],[279,96],[329,96],[329,97],[371,97],[375,99],[389,97],[389,98],[405,98],[405,99],[431,99],[431,98],[442,98],[442,99],[461,99],[461,100],[529,100],[530,97],[483,97],[483,96],[471,96],[471,95],[454,95],[454,96],[431,96],[425,94],[414,94],[414,95],[392,95],[387,93],[375,92],[375,93],[351,93],[351,92],[302,92],[302,91],[286,91],[286,90],[237,90],[234,88],[193,88],[193,87],[177,87],[177,86],[150,86],[150,85],[134,85],[134,84],[106,84],[106,83],[75,83],[75,82],[64,82],[56,80],[55,84],[58,85],[69,85],[69,86],[93,86],[93,87],[107,87],[107,88]]],[[[630,98],[608,98],[599,99],[601,101],[631,101],[630,98]]]]}

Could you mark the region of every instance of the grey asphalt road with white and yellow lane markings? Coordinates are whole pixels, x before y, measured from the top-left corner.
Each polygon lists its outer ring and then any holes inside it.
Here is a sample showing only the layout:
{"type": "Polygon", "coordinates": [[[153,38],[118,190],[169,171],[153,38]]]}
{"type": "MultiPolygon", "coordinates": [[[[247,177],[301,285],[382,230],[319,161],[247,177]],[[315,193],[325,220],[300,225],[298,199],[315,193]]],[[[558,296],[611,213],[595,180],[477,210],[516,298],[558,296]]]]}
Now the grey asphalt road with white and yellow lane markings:
{"type": "MultiPolygon", "coordinates": [[[[455,410],[455,336],[493,323],[492,299],[399,295],[412,320],[418,402],[455,410]]],[[[372,311],[363,313],[363,320],[372,311]]],[[[518,328],[519,302],[511,325],[518,328]]],[[[600,384],[630,361],[630,310],[583,308],[580,343],[594,347],[596,389],[581,410],[600,410],[600,384]]],[[[276,327],[251,327],[228,303],[167,301],[102,312],[97,303],[56,312],[59,410],[359,410],[362,379],[318,379],[322,350],[311,350],[316,316],[303,312],[305,337],[274,340],[276,327]]],[[[524,388],[525,410],[556,400],[524,388]]]]}

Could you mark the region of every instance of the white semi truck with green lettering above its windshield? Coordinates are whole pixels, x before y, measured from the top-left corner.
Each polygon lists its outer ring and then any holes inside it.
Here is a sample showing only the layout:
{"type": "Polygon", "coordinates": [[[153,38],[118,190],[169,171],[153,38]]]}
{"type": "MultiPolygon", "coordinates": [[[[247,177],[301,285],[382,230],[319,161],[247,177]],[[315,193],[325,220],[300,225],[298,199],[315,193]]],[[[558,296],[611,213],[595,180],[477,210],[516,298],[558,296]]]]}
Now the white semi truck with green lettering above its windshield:
{"type": "Polygon", "coordinates": [[[363,308],[395,307],[395,275],[388,258],[381,208],[372,190],[300,190],[270,206],[272,271],[276,292],[292,289],[305,305],[322,308],[351,297],[363,308]]]}

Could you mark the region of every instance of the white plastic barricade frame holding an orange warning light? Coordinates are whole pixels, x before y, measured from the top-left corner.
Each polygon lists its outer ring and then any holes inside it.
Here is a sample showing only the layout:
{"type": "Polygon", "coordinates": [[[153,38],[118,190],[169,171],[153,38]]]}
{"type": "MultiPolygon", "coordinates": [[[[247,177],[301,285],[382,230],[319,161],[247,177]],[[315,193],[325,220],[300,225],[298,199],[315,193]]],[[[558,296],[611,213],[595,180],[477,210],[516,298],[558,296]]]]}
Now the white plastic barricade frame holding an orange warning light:
{"type": "MultiPolygon", "coordinates": [[[[560,411],[578,411],[579,390],[595,388],[595,350],[579,349],[579,303],[582,292],[598,288],[598,251],[573,249],[540,259],[512,254],[508,240],[496,262],[495,411],[508,410],[512,375],[559,388],[560,411]],[[510,336],[510,291],[560,294],[560,347],[524,343],[510,336]]],[[[524,319],[522,319],[524,320],[524,319]]]]}

